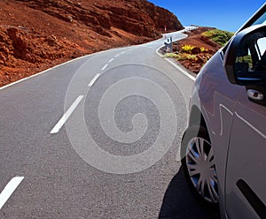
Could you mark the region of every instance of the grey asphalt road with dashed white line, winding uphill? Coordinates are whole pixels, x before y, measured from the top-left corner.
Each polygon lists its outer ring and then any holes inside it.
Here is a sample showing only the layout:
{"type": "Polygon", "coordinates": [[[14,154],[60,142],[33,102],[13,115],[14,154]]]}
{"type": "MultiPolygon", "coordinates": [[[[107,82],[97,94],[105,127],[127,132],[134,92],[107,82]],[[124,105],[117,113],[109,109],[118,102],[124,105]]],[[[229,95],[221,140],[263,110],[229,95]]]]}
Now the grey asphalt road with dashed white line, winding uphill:
{"type": "Polygon", "coordinates": [[[162,44],[82,57],[0,90],[0,218],[214,217],[180,169],[193,81],[158,56],[162,44]]]}

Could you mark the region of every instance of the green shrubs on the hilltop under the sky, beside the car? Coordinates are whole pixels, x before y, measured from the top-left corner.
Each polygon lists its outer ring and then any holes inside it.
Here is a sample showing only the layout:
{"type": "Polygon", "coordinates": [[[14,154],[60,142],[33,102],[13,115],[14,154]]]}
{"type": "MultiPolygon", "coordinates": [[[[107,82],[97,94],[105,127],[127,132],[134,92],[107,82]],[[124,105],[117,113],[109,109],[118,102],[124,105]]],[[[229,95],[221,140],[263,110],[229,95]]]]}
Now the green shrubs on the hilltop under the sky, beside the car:
{"type": "Polygon", "coordinates": [[[233,36],[233,33],[228,32],[228,31],[223,31],[223,30],[208,30],[202,35],[206,36],[207,38],[210,38],[214,42],[219,43],[221,46],[224,46],[226,42],[228,42],[231,37],[233,36]]]}

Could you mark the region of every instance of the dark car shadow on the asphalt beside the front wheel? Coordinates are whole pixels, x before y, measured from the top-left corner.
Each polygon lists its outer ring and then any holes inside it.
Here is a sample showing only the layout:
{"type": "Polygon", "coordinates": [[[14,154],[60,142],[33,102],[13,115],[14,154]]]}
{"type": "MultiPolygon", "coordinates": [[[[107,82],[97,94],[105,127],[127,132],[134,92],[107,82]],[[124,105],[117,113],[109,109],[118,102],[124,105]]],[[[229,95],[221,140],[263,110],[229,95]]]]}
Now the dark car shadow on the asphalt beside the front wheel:
{"type": "Polygon", "coordinates": [[[164,194],[159,218],[218,219],[220,216],[200,206],[190,193],[180,168],[164,194]]]}

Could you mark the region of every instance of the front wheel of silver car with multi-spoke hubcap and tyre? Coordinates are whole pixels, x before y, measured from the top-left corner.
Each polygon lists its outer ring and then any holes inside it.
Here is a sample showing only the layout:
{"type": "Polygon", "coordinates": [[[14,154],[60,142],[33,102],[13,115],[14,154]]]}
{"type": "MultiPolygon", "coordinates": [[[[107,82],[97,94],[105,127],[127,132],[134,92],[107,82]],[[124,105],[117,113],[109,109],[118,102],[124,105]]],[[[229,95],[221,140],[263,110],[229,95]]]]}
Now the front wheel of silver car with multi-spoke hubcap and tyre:
{"type": "Polygon", "coordinates": [[[215,157],[207,130],[192,126],[181,144],[184,177],[192,193],[207,207],[218,208],[218,179],[215,157]]]}

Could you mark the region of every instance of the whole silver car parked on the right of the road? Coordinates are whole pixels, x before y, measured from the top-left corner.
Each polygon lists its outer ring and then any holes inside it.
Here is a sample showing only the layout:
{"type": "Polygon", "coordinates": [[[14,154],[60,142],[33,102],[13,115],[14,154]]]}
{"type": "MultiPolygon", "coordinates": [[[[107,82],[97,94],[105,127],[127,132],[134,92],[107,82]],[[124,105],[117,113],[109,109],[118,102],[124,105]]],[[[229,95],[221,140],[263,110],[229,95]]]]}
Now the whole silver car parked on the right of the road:
{"type": "Polygon", "coordinates": [[[266,218],[266,4],[202,68],[181,146],[188,185],[222,218],[266,218]]]}

